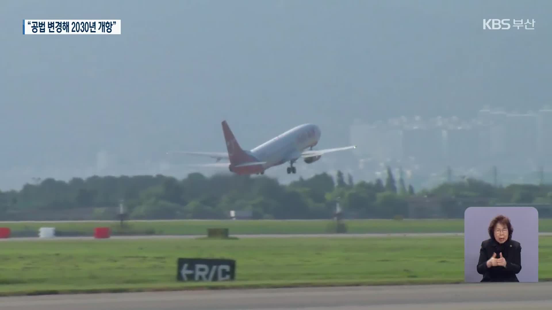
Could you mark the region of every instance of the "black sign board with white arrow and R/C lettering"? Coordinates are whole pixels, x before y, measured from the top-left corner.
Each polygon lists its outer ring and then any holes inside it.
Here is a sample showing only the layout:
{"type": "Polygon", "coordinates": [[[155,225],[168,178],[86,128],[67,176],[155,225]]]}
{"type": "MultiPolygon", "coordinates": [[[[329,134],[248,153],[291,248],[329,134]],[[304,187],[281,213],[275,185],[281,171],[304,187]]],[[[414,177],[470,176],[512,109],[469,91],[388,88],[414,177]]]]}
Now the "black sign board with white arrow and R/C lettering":
{"type": "Polygon", "coordinates": [[[232,281],[236,277],[233,259],[179,258],[178,281],[232,281]]]}

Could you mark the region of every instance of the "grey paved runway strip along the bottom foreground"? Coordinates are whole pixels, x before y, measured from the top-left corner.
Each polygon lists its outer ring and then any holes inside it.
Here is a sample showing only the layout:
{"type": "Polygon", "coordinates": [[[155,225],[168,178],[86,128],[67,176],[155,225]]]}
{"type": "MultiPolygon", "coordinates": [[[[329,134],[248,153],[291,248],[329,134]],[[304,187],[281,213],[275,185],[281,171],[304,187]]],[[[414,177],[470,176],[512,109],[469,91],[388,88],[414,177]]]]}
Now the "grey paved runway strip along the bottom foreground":
{"type": "Polygon", "coordinates": [[[2,310],[551,309],[552,282],[0,297],[2,310]]]}

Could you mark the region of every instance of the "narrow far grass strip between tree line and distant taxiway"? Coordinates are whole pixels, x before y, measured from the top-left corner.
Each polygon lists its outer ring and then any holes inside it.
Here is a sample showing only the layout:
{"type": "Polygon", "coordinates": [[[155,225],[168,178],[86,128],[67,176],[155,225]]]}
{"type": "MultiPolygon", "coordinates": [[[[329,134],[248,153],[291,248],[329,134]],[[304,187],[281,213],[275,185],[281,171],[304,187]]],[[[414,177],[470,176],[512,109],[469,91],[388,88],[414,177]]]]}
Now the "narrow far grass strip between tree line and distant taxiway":
{"type": "MultiPolygon", "coordinates": [[[[327,233],[331,221],[130,221],[118,222],[0,223],[14,237],[36,236],[40,227],[55,227],[59,236],[92,236],[94,227],[108,226],[113,234],[205,234],[208,228],[229,228],[231,234],[327,233]]],[[[351,220],[348,233],[462,233],[464,220],[351,220]]],[[[515,228],[515,226],[514,226],[515,228]]],[[[539,220],[540,232],[552,232],[552,219],[539,220]]]]}

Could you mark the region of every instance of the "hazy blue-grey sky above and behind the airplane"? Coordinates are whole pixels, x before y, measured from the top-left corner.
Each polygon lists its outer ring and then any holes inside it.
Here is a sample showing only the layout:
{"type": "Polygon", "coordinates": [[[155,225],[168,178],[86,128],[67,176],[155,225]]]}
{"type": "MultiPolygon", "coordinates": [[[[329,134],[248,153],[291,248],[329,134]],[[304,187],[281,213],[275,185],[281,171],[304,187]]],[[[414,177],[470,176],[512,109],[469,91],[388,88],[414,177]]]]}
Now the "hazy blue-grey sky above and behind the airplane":
{"type": "Polygon", "coordinates": [[[552,101],[551,13],[545,0],[4,0],[0,189],[225,151],[223,119],[247,148],[314,122],[326,148],[349,145],[355,118],[538,109],[552,101]],[[122,34],[23,35],[33,18],[121,19],[122,34]]]}

